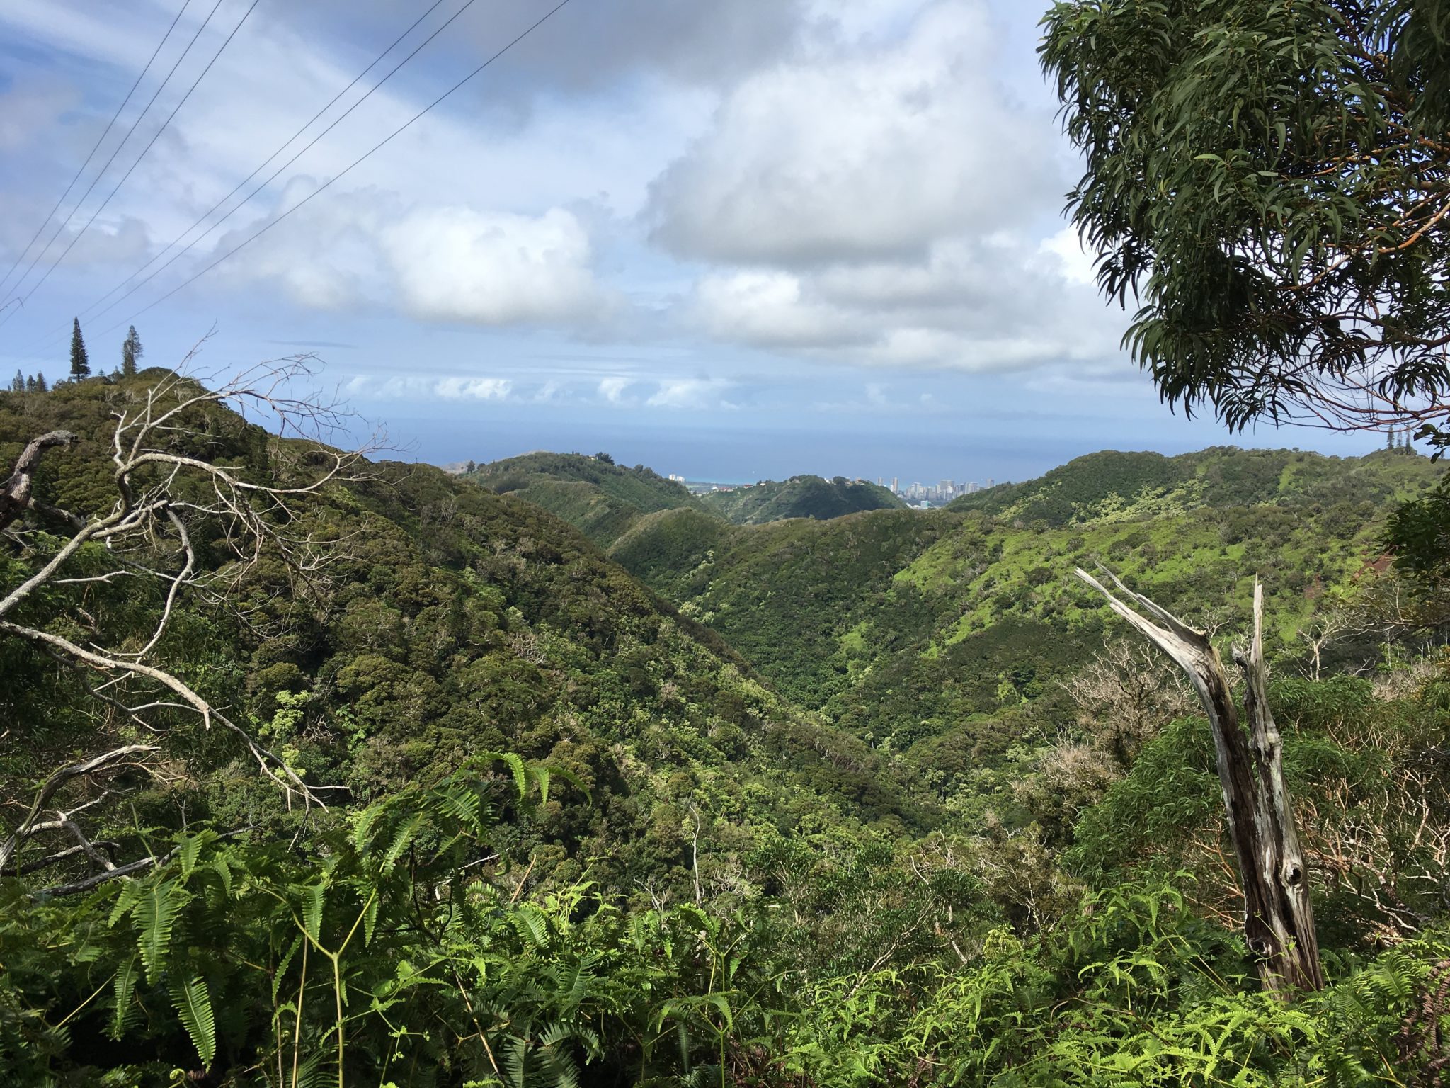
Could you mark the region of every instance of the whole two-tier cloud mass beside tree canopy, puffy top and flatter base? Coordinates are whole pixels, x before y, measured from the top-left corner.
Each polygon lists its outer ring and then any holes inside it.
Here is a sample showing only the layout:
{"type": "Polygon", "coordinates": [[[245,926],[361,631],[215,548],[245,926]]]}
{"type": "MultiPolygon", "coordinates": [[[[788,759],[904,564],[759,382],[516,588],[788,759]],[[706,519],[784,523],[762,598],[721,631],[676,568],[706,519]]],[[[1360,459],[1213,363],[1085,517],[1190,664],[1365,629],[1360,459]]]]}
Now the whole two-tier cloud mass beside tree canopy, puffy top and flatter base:
{"type": "Polygon", "coordinates": [[[986,4],[877,0],[853,19],[854,36],[744,78],[652,186],[654,241],[706,264],[696,328],[870,367],[1115,357],[1092,257],[1047,226],[1067,187],[1056,122],[993,83],[986,4]]]}

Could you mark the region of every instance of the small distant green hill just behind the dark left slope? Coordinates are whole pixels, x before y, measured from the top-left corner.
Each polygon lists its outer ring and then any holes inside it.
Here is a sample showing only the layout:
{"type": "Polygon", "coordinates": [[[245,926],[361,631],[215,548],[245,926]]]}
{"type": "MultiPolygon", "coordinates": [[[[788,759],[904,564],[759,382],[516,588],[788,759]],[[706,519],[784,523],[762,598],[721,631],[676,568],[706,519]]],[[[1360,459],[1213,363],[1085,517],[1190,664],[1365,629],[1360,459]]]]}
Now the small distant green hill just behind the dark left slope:
{"type": "Polygon", "coordinates": [[[684,485],[651,469],[626,469],[583,454],[532,453],[484,464],[464,479],[500,495],[542,506],[586,537],[609,547],[641,515],[666,509],[702,509],[684,485]]]}

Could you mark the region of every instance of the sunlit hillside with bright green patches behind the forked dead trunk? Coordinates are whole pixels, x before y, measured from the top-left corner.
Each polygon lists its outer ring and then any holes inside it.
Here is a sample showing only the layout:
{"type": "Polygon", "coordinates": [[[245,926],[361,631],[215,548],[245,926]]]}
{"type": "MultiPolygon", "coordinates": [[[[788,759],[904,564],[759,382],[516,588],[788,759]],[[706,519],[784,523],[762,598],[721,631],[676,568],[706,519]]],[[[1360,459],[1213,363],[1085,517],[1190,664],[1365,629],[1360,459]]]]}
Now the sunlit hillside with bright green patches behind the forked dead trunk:
{"type": "MultiPolygon", "coordinates": [[[[1270,653],[1293,669],[1309,650],[1301,631],[1376,577],[1388,511],[1440,476],[1404,451],[1102,453],[944,512],[734,532],[657,515],[615,556],[792,699],[905,753],[942,799],[970,807],[1008,788],[1015,744],[1047,743],[1072,720],[1060,682],[1109,622],[1074,566],[1108,563],[1230,630],[1257,573],[1270,653]]],[[[1333,653],[1363,664],[1378,646],[1366,630],[1333,653]]]]}

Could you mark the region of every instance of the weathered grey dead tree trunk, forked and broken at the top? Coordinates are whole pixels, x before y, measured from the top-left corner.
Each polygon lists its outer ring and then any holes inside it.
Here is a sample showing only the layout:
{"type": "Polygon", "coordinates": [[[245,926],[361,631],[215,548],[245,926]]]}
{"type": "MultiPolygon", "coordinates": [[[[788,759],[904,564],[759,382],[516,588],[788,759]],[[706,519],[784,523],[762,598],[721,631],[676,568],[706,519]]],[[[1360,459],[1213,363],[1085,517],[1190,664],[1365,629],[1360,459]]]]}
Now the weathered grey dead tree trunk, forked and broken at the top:
{"type": "Polygon", "coordinates": [[[1103,573],[1137,608],[1119,601],[1080,567],[1077,577],[1108,598],[1114,612],[1177,662],[1204,702],[1214,728],[1218,780],[1224,788],[1228,833],[1234,840],[1244,885],[1244,936],[1259,959],[1259,975],[1264,986],[1322,989],[1324,972],[1314,933],[1308,867],[1299,849],[1289,789],[1283,780],[1279,728],[1264,698],[1267,669],[1263,657],[1263,588],[1256,579],[1254,635],[1248,653],[1234,654],[1246,677],[1246,734],[1238,724],[1228,673],[1208,635],[1195,631],[1141,593],[1134,593],[1111,572],[1103,573]]]}

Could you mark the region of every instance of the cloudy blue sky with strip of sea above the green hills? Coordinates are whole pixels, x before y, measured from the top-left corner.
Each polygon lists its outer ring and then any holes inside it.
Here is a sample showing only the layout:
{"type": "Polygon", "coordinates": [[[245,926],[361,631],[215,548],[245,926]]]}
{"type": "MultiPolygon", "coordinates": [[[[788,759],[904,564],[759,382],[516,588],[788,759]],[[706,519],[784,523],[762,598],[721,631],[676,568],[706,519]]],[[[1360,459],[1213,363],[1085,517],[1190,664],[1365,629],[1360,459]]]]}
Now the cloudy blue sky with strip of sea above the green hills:
{"type": "Polygon", "coordinates": [[[722,482],[1380,445],[1186,421],[1119,350],[1045,0],[557,1],[6,0],[0,373],[64,374],[77,315],[103,368],[210,334],[397,457],[722,482]]]}

